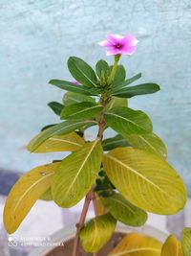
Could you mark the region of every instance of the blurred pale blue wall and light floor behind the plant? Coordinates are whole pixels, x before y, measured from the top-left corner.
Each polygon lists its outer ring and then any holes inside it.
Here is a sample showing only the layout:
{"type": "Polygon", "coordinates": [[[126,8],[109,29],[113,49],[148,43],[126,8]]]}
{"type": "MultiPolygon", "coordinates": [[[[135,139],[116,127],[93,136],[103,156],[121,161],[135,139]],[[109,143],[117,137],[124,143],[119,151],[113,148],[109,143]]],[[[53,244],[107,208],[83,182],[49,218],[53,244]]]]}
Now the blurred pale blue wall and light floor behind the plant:
{"type": "MultiPolygon", "coordinates": [[[[133,98],[129,104],[150,115],[155,132],[167,145],[170,163],[191,195],[190,1],[0,0],[0,255],[26,255],[31,249],[17,252],[7,246],[2,215],[11,185],[18,175],[62,156],[25,149],[40,128],[59,122],[47,103],[61,102],[63,91],[48,81],[72,79],[67,70],[70,56],[84,58],[93,67],[100,58],[112,63],[97,42],[108,34],[128,33],[139,42],[133,57],[121,59],[127,75],[141,72],[142,82],[158,82],[161,87],[159,93],[133,98]]],[[[53,202],[39,201],[16,235],[50,235],[76,221],[80,206],[68,214],[53,202]]],[[[153,215],[149,221],[179,233],[191,224],[189,208],[188,204],[175,217],[153,215]]]]}

